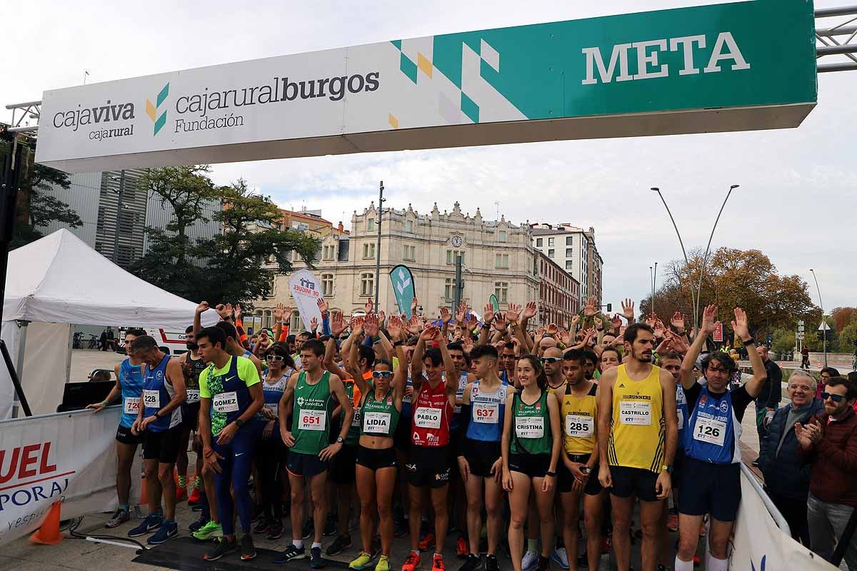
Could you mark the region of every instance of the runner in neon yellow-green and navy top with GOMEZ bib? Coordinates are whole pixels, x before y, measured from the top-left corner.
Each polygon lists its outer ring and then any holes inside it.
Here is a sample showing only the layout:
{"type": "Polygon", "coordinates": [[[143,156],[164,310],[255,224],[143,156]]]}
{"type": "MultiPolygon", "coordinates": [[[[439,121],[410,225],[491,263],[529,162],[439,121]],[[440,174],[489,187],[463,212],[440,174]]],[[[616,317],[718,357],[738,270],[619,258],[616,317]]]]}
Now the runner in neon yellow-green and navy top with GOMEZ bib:
{"type": "Polygon", "coordinates": [[[232,518],[232,509],[236,507],[232,502],[234,491],[243,531],[241,558],[246,561],[256,556],[250,536],[253,500],[247,480],[261,432],[255,415],[265,405],[259,370],[253,361],[224,350],[226,336],[217,327],[197,331],[196,343],[202,360],[208,363],[200,373],[203,469],[214,473],[218,514],[223,526],[223,538],[205,558],[214,561],[237,549],[232,518]]]}

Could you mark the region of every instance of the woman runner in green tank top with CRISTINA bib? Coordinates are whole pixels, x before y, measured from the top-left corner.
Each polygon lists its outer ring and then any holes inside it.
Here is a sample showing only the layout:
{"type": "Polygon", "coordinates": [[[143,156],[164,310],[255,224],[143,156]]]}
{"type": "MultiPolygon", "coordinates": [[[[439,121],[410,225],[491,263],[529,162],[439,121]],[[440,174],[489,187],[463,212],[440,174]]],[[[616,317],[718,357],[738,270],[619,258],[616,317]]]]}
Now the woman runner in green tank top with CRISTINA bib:
{"type": "MultiPolygon", "coordinates": [[[[554,490],[556,467],[562,449],[560,403],[548,397],[548,378],[536,355],[518,360],[521,391],[506,397],[503,420],[503,489],[509,492],[512,521],[509,549],[524,552],[524,521],[527,519],[530,489],[542,521],[542,556],[536,571],[548,568],[554,538],[554,490]]],[[[520,556],[512,556],[514,571],[521,571],[520,556]]]]}

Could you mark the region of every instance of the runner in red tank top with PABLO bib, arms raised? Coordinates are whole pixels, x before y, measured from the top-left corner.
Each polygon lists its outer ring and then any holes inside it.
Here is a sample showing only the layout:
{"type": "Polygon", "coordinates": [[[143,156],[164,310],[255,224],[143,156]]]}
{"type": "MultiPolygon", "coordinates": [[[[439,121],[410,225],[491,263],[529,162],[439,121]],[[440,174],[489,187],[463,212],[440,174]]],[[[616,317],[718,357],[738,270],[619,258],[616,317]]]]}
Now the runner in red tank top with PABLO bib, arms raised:
{"type": "Polygon", "coordinates": [[[437,327],[427,327],[420,335],[411,359],[411,378],[417,398],[411,420],[411,450],[405,463],[411,495],[411,555],[402,571],[415,571],[420,564],[419,535],[423,520],[423,491],[431,489],[434,506],[434,535],[436,547],[433,571],[444,571],[443,543],[449,515],[446,512],[446,492],[449,488],[449,423],[455,407],[458,374],[437,327]],[[437,348],[429,348],[436,345],[437,348]],[[423,371],[425,376],[423,377],[423,371]],[[442,373],[446,372],[446,383],[442,373]]]}

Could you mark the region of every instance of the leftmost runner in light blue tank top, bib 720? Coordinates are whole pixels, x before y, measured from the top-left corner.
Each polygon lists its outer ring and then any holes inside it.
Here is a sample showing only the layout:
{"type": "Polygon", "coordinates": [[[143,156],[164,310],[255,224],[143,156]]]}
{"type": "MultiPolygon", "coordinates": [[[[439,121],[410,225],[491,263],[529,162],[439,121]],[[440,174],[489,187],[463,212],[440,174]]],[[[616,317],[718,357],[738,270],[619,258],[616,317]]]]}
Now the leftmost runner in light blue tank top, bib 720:
{"type": "Polygon", "coordinates": [[[116,385],[104,401],[96,402],[87,406],[95,412],[111,405],[119,397],[119,405],[122,407],[122,416],[119,419],[119,427],[116,431],[116,455],[118,460],[116,473],[116,494],[119,506],[105,527],[116,527],[130,519],[129,494],[131,491],[131,465],[134,463],[134,455],[137,453],[137,444],[141,443],[140,435],[131,434],[131,426],[137,419],[141,395],[143,394],[143,375],[141,361],[137,360],[130,349],[131,342],[138,336],[146,335],[141,329],[129,329],[125,332],[125,352],[128,359],[117,363],[113,367],[116,375],[116,385]]]}

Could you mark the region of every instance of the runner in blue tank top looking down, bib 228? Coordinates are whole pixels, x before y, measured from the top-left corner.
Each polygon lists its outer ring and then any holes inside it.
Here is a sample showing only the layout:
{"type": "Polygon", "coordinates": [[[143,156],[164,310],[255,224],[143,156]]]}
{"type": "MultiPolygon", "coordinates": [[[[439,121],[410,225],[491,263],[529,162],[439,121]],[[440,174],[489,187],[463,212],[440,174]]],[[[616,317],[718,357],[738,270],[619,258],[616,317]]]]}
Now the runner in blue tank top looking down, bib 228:
{"type": "Polygon", "coordinates": [[[182,442],[182,404],[187,398],[184,372],[178,360],[158,348],[153,337],[144,335],[131,343],[135,357],[143,362],[143,400],[131,432],[143,435],[143,464],[150,509],[161,504],[164,515],[150,513],[129,537],[158,529],[149,544],[162,544],[178,533],[176,525],[176,483],[173,468],[182,442]]]}

